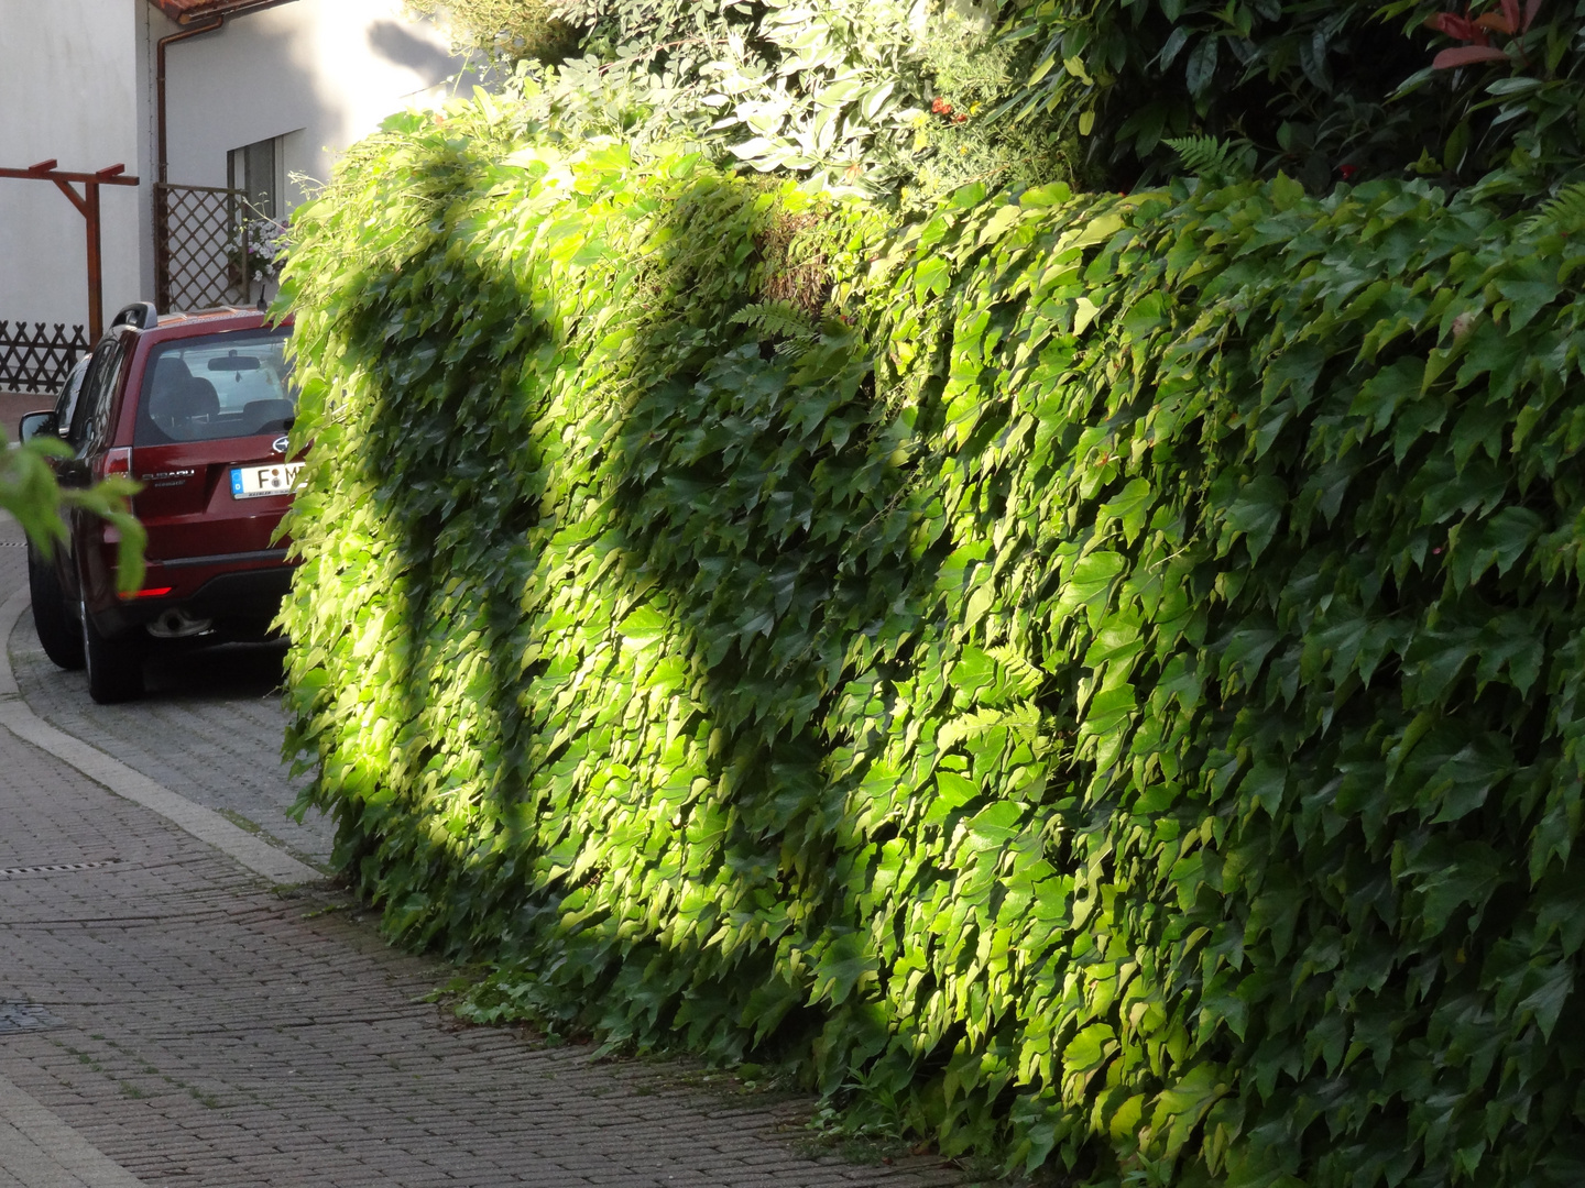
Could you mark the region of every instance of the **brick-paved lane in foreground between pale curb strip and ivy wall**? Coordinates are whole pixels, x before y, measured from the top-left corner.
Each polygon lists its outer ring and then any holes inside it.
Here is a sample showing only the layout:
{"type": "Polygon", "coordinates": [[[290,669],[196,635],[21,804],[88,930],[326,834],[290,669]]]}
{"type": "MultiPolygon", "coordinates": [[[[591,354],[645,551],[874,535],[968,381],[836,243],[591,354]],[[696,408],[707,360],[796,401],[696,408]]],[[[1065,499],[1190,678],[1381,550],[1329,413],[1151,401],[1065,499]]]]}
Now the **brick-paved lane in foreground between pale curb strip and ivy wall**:
{"type": "MultiPolygon", "coordinates": [[[[0,548],[0,597],[22,562],[0,548]]],[[[0,1090],[146,1185],[957,1178],[930,1158],[804,1158],[797,1109],[460,1028],[414,1001],[447,971],[387,949],[336,892],[273,890],[5,730],[0,822],[0,1003],[32,1004],[0,1006],[0,1090]]],[[[21,1150],[6,1136],[0,1159],[21,1150]]],[[[27,1175],[0,1164],[5,1188],[94,1182],[27,1175]]]]}

